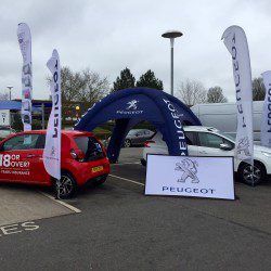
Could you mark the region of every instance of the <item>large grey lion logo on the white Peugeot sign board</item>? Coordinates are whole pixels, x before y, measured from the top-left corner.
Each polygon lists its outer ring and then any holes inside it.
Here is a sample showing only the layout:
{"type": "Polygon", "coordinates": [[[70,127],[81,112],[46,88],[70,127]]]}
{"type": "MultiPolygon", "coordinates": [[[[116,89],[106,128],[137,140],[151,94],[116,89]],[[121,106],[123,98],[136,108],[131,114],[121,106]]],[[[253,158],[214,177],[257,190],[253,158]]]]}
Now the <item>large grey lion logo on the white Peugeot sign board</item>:
{"type": "Polygon", "coordinates": [[[178,182],[185,182],[186,179],[191,179],[192,183],[198,183],[199,180],[196,176],[198,164],[195,160],[189,158],[183,159],[181,163],[176,163],[175,170],[182,171],[181,179],[178,179],[178,182]]]}

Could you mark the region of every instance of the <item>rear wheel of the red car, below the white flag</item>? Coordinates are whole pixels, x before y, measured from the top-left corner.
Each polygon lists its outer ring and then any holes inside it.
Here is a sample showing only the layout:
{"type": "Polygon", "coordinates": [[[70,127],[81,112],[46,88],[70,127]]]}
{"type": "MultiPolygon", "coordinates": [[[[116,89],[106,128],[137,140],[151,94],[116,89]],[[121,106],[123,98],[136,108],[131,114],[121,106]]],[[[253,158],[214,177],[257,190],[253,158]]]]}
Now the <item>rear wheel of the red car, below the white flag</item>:
{"type": "Polygon", "coordinates": [[[56,180],[54,182],[54,190],[61,199],[73,197],[77,190],[75,178],[68,172],[62,172],[60,183],[56,180]]]}

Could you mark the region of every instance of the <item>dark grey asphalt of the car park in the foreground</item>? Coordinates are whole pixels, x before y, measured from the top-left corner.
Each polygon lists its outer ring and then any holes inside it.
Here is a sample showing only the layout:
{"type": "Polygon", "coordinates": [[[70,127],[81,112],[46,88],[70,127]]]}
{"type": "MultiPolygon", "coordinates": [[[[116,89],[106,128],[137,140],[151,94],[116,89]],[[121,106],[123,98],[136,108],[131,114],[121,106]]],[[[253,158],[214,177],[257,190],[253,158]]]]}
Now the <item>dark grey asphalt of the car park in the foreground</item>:
{"type": "Polygon", "coordinates": [[[270,184],[237,183],[234,202],[144,196],[140,153],[67,201],[80,214],[0,232],[1,270],[271,270],[270,184]]]}

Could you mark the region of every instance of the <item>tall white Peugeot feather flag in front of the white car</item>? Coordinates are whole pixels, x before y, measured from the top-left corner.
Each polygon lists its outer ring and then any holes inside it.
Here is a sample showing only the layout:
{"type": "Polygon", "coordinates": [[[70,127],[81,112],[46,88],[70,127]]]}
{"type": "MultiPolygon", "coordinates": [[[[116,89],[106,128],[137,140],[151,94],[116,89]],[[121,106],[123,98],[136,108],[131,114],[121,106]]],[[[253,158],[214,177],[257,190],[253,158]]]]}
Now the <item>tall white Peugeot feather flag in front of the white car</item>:
{"type": "Polygon", "coordinates": [[[224,30],[222,39],[232,55],[236,91],[237,133],[235,155],[237,158],[253,165],[253,87],[246,35],[240,26],[230,26],[224,30]]]}

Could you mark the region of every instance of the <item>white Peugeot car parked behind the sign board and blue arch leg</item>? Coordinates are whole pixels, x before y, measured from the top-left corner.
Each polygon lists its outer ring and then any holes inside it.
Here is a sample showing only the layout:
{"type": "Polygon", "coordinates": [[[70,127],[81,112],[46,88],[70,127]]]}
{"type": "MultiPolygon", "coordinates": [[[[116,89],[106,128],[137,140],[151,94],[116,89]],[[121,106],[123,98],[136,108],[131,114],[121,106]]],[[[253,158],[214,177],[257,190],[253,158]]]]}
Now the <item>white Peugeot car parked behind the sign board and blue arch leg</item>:
{"type": "MultiPolygon", "coordinates": [[[[185,126],[184,133],[191,156],[234,156],[235,140],[223,132],[209,127],[185,126]]],[[[162,133],[157,132],[145,142],[141,163],[146,165],[147,154],[168,154],[168,147],[162,133]]],[[[254,146],[254,173],[251,166],[234,158],[234,171],[238,179],[247,184],[258,184],[271,176],[271,149],[254,146]]]]}

